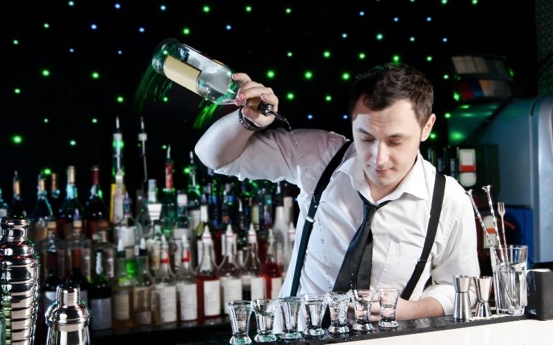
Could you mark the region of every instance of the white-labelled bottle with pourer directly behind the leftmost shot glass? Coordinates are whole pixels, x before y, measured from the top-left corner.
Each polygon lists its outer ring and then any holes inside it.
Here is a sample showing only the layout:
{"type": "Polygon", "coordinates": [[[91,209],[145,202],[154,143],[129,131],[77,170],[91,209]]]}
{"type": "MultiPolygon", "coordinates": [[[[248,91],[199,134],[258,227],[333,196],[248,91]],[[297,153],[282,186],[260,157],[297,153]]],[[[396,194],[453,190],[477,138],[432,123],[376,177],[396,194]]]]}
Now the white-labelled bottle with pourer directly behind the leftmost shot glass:
{"type": "Polygon", "coordinates": [[[225,252],[223,262],[219,267],[219,276],[221,277],[221,311],[228,314],[227,303],[242,299],[242,279],[240,268],[234,262],[235,237],[232,232],[232,226],[227,224],[225,232],[225,252]]]}

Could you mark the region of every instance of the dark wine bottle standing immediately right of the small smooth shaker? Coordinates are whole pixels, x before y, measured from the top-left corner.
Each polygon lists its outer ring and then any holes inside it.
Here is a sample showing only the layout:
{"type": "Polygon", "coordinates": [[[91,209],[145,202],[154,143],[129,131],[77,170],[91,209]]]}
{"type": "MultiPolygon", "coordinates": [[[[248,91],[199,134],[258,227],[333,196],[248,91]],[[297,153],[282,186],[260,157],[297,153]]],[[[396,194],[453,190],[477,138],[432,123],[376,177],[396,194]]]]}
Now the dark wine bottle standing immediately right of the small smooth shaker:
{"type": "Polygon", "coordinates": [[[104,251],[95,250],[96,274],[92,280],[89,297],[91,299],[91,328],[93,331],[111,328],[111,283],[104,274],[102,262],[104,251]]]}

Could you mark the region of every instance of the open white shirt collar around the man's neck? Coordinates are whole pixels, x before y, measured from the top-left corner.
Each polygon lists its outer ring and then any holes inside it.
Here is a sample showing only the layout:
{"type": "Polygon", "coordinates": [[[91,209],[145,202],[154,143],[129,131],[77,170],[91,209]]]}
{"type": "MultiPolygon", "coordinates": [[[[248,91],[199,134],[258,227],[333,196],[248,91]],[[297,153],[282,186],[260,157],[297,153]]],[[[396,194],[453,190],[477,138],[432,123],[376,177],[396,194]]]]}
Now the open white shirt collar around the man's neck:
{"type": "MultiPolygon", "coordinates": [[[[365,195],[366,193],[364,193],[368,191],[368,184],[365,181],[363,168],[361,165],[359,165],[357,152],[355,150],[352,150],[351,152],[347,152],[346,155],[348,155],[349,157],[346,157],[346,160],[343,164],[341,164],[341,166],[339,166],[337,171],[344,172],[346,175],[348,175],[353,184],[353,188],[359,190],[359,192],[361,192],[364,197],[368,197],[368,195],[365,195]]],[[[397,186],[397,188],[392,193],[386,195],[386,197],[382,198],[381,201],[385,201],[388,199],[397,199],[403,193],[409,193],[414,197],[418,197],[423,200],[427,200],[429,198],[427,184],[425,183],[424,179],[422,155],[420,155],[420,152],[418,152],[417,161],[415,161],[413,168],[409,170],[407,177],[402,181],[400,186],[397,186]]]]}

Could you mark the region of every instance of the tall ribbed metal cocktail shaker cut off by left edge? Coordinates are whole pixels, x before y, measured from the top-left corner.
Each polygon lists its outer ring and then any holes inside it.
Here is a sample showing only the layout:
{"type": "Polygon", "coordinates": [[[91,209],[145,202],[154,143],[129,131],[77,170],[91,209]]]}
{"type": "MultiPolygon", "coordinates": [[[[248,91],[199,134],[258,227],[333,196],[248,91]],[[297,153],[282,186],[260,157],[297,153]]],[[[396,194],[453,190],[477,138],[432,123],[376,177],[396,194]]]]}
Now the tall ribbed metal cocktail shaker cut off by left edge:
{"type": "Polygon", "coordinates": [[[32,345],[39,306],[39,256],[28,239],[26,217],[0,220],[1,308],[6,316],[6,345],[32,345]]]}

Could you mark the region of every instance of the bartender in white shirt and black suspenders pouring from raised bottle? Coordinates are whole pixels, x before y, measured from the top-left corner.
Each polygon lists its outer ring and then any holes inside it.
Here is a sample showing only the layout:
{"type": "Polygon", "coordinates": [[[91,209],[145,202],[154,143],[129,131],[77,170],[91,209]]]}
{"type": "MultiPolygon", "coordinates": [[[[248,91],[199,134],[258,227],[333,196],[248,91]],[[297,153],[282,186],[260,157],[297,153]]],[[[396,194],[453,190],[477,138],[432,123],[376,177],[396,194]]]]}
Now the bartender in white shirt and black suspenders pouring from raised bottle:
{"type": "MultiPolygon", "coordinates": [[[[426,77],[404,63],[359,75],[348,107],[353,144],[326,130],[293,130],[295,138],[265,130],[274,116],[248,100],[261,97],[278,112],[277,95],[244,73],[232,78],[241,108],[208,128],[196,154],[224,175],[299,187],[297,237],[280,296],[392,287],[402,290],[397,319],[451,315],[453,275],[480,274],[476,224],[465,190],[420,155],[436,118],[426,77]]],[[[378,317],[377,304],[371,314],[378,317]]]]}

